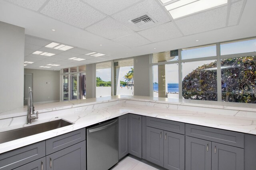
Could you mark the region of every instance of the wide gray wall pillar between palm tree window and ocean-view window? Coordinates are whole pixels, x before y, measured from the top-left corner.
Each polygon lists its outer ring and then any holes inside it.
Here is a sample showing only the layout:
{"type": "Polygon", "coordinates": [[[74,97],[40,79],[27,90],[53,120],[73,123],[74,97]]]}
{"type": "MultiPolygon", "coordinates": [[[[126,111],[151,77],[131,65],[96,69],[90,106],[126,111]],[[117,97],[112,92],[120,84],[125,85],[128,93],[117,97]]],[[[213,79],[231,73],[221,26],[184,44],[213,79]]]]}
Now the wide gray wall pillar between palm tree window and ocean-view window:
{"type": "Polygon", "coordinates": [[[150,55],[134,57],[134,96],[150,96],[150,55]]]}

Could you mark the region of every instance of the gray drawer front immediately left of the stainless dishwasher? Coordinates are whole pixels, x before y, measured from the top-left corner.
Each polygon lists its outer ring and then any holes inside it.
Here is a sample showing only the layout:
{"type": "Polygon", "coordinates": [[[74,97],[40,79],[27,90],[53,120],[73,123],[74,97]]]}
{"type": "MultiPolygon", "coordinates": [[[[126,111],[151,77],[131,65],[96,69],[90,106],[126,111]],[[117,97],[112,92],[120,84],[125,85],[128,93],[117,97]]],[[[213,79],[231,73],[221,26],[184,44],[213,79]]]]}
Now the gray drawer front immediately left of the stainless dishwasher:
{"type": "Polygon", "coordinates": [[[46,140],[46,155],[85,140],[85,128],[46,140]]]}

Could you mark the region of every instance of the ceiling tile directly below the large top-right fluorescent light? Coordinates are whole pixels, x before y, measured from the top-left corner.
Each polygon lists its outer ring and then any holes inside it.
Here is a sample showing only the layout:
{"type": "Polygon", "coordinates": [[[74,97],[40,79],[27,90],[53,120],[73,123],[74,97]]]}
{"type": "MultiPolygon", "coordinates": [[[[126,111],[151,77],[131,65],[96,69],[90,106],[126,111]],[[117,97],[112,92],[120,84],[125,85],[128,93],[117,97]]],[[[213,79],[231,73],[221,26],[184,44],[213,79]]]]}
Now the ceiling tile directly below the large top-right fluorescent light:
{"type": "Polygon", "coordinates": [[[226,26],[228,6],[222,6],[205,12],[175,20],[184,35],[201,33],[226,26]]]}

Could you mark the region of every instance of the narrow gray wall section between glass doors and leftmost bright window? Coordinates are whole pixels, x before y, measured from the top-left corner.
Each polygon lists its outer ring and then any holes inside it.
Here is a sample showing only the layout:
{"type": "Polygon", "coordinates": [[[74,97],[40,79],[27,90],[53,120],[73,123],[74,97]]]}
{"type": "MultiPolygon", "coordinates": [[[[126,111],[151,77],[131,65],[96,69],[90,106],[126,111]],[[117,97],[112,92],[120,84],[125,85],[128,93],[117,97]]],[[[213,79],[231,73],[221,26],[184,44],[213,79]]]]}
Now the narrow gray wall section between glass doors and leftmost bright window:
{"type": "Polygon", "coordinates": [[[86,99],[96,97],[96,66],[86,65],[86,99]]]}

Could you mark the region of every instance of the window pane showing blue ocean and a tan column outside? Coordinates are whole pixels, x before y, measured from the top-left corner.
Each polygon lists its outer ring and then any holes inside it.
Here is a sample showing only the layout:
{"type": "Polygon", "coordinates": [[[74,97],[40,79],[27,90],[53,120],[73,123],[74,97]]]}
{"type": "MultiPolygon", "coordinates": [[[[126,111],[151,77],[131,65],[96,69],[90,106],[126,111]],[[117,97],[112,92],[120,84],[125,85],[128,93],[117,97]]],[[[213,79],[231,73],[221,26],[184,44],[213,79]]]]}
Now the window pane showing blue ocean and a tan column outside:
{"type": "Polygon", "coordinates": [[[178,63],[153,66],[153,96],[179,98],[178,63]]]}

